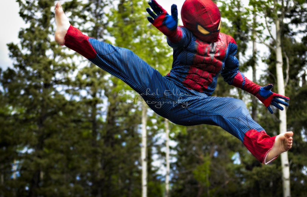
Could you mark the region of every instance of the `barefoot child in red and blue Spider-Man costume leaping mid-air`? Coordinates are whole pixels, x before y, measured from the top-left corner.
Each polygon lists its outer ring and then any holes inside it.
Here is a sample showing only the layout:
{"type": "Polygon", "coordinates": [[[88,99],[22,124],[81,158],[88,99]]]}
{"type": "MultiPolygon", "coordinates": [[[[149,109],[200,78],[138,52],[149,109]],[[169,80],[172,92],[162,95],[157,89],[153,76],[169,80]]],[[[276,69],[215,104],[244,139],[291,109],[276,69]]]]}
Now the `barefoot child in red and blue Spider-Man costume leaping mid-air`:
{"type": "Polygon", "coordinates": [[[97,66],[122,79],[138,92],[153,111],[171,122],[192,126],[211,124],[239,138],[263,163],[273,161],[292,146],[293,132],[270,137],[250,116],[242,100],[212,97],[221,74],[229,85],[255,95],[273,113],[288,106],[288,97],[261,87],[239,72],[235,40],[220,33],[220,11],[211,0],[186,0],[181,9],[183,26],[178,26],[177,6],[171,15],[155,0],[149,2],[148,20],[167,36],[173,47],[173,66],[162,76],[132,51],[90,38],[69,24],[60,3],[56,5],[55,39],[97,66]],[[278,104],[279,103],[279,104],[278,104]]]}

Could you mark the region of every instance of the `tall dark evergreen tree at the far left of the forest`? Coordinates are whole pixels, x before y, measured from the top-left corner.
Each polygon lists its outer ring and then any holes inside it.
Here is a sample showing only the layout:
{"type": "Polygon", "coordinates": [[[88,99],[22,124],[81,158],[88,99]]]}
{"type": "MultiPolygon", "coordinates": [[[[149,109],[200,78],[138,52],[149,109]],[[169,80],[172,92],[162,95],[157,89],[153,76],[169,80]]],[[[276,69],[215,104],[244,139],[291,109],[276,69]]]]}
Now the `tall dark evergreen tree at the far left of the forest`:
{"type": "Polygon", "coordinates": [[[4,109],[9,109],[2,132],[11,136],[8,159],[17,164],[13,180],[5,176],[5,184],[12,182],[5,191],[8,196],[68,196],[74,193],[72,172],[79,159],[72,149],[74,102],[65,98],[62,87],[69,83],[73,65],[51,37],[54,1],[17,2],[28,27],[19,32],[20,44],[8,44],[14,68],[1,78],[4,109]]]}

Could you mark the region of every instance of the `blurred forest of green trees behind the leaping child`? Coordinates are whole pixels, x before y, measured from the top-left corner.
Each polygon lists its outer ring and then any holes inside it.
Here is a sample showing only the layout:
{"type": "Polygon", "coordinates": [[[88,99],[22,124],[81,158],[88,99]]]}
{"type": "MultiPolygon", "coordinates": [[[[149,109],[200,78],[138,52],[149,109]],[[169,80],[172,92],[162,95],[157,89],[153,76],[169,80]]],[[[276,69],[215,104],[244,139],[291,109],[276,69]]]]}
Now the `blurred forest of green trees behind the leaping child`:
{"type": "MultiPolygon", "coordinates": [[[[19,29],[18,43],[7,44],[13,65],[0,65],[0,196],[141,196],[140,96],[54,42],[56,1],[17,2],[26,25],[19,29]]],[[[252,70],[260,85],[277,84],[270,33],[274,17],[284,18],[287,129],[294,132],[288,153],[291,195],[307,196],[306,1],[217,4],[221,32],[238,44],[240,70],[252,70]],[[287,6],[289,11],[282,9],[287,6]]],[[[72,25],[87,35],[131,49],[162,75],[170,70],[172,49],[147,21],[146,1],[70,0],[63,7],[72,25]]],[[[269,135],[279,133],[278,110],[271,115],[222,78],[214,96],[244,100],[269,135]]],[[[147,196],[165,196],[165,121],[151,110],[147,115],[147,196]]],[[[279,158],[262,165],[220,127],[169,126],[170,196],[282,196],[279,158]]]]}

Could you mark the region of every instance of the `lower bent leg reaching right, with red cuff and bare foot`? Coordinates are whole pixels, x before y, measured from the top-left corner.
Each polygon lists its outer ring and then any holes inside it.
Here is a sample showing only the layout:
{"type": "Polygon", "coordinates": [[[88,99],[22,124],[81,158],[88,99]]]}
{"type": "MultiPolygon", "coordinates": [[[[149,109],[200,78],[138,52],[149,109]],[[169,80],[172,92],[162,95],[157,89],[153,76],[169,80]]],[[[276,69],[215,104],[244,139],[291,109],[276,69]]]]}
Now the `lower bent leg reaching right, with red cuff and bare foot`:
{"type": "Polygon", "coordinates": [[[270,137],[250,116],[242,100],[225,97],[182,97],[170,120],[181,125],[210,124],[222,127],[239,138],[262,163],[273,161],[292,146],[292,132],[270,137]]]}

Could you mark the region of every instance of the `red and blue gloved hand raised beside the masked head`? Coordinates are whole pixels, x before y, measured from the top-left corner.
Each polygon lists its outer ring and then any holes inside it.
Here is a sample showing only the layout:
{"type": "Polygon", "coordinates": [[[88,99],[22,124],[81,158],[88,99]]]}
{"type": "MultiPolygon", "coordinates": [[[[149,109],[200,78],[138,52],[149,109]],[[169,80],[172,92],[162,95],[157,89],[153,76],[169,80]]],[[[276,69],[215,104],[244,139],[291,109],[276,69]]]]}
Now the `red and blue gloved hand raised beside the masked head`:
{"type": "Polygon", "coordinates": [[[147,17],[148,21],[159,29],[165,36],[172,36],[177,31],[178,26],[178,10],[175,4],[171,7],[172,15],[169,15],[155,0],[148,2],[150,8],[146,11],[151,17],[147,17]]]}

